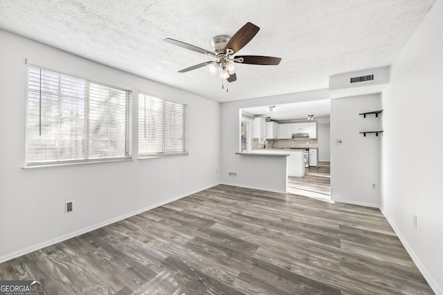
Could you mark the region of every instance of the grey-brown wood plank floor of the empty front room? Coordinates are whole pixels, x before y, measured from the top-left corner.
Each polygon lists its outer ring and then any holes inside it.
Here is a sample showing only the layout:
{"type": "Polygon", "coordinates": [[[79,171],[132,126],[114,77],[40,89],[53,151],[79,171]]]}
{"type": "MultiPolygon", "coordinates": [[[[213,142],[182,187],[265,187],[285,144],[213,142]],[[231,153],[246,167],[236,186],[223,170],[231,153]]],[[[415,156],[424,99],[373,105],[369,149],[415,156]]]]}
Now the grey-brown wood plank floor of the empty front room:
{"type": "Polygon", "coordinates": [[[0,264],[45,294],[433,294],[378,209],[219,185],[0,264]]]}

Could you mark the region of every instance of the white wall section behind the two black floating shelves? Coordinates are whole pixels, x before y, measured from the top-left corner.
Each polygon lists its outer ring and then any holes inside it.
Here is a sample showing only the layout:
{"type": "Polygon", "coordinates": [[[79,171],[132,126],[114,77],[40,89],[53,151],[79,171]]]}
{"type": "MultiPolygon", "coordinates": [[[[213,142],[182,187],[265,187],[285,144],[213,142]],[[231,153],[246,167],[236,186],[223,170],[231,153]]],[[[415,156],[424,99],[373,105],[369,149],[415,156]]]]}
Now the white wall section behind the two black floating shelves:
{"type": "Polygon", "coordinates": [[[379,109],[378,94],[331,100],[332,200],[379,207],[381,135],[359,134],[381,128],[381,117],[359,115],[379,109]],[[336,140],[342,143],[336,144],[336,140]]]}

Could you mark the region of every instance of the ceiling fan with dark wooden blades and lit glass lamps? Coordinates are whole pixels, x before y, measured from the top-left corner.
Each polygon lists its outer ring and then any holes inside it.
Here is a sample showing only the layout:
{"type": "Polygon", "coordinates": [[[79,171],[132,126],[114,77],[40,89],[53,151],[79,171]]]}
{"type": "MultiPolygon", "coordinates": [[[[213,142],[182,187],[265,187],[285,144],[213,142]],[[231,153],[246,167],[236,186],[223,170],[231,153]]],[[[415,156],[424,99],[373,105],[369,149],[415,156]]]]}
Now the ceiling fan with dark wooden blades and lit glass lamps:
{"type": "Polygon", "coordinates": [[[170,38],[166,38],[164,41],[188,50],[195,51],[197,53],[209,55],[210,57],[214,57],[216,59],[214,61],[206,61],[201,64],[196,64],[195,66],[190,66],[189,68],[183,68],[183,70],[179,70],[179,73],[186,73],[190,70],[210,66],[209,69],[211,73],[215,74],[217,70],[220,69],[221,79],[226,79],[228,82],[234,82],[237,80],[237,75],[235,75],[235,70],[237,69],[236,63],[276,66],[280,64],[280,61],[282,60],[280,57],[265,57],[261,55],[232,56],[233,54],[237,53],[238,50],[242,49],[246,44],[248,44],[259,30],[259,27],[248,22],[242,26],[242,28],[240,28],[233,35],[233,37],[227,35],[215,36],[210,39],[210,47],[212,50],[206,50],[170,38]]]}

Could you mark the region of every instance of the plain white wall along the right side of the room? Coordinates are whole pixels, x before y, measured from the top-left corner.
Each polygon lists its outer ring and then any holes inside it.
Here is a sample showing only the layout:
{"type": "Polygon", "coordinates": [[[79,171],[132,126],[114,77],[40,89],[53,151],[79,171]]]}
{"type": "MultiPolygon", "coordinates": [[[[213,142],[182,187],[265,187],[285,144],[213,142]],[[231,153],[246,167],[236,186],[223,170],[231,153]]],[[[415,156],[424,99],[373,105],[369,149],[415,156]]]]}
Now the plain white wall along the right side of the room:
{"type": "Polygon", "coordinates": [[[381,209],[436,294],[443,294],[442,36],[437,0],[393,62],[382,93],[381,209]]]}

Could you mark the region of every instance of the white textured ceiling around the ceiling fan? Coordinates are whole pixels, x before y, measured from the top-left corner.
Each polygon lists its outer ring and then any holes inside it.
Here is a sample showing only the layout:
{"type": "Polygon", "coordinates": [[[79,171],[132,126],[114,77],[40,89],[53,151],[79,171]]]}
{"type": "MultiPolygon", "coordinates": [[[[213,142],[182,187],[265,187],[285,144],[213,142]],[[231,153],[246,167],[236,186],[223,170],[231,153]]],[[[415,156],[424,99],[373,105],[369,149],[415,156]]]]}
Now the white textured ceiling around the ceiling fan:
{"type": "Polygon", "coordinates": [[[388,66],[435,0],[0,0],[0,28],[218,102],[328,87],[328,77],[388,66]],[[279,66],[239,64],[229,92],[210,49],[247,21],[260,27],[239,55],[281,57],[279,66]]]}

